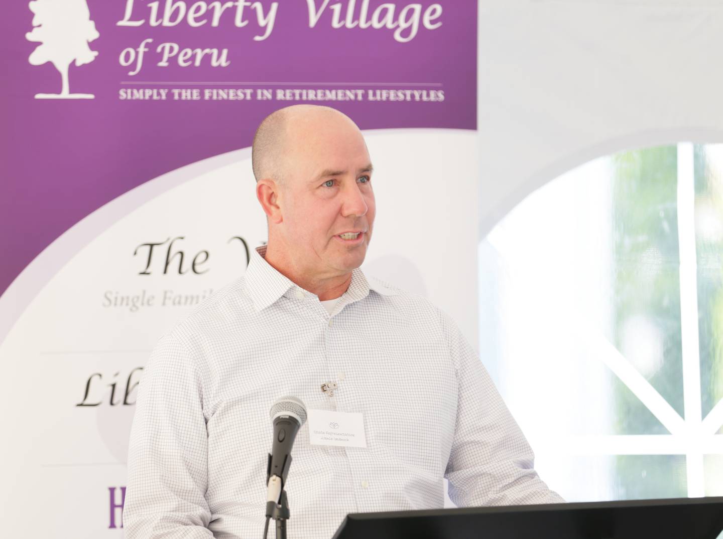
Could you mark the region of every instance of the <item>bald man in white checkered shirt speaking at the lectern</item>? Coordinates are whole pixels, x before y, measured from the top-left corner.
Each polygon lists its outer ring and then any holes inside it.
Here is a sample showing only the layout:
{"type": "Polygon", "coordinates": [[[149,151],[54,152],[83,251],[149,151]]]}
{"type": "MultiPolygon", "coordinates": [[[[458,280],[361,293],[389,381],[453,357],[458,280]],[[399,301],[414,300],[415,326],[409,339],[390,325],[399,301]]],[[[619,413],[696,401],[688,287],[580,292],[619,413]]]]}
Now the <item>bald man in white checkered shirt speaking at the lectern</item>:
{"type": "Polygon", "coordinates": [[[325,107],[278,110],[254,136],[252,164],[268,245],[153,351],[126,537],[260,537],[269,409],[283,395],[310,418],[286,483],[289,538],[330,538],[350,512],[440,508],[444,478],[460,506],[562,501],[454,321],[359,269],[376,208],[354,122],[325,107]],[[346,437],[315,434],[340,425],[346,437]]]}

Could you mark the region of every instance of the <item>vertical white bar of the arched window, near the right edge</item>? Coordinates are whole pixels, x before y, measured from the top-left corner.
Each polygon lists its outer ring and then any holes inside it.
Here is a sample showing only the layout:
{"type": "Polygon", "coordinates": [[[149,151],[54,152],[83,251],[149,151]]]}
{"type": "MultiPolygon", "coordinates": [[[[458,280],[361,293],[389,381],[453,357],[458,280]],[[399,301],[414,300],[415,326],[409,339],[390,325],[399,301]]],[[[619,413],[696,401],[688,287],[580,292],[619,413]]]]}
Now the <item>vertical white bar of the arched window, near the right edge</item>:
{"type": "MultiPolygon", "coordinates": [[[[677,224],[680,249],[680,328],[683,349],[685,424],[693,439],[701,429],[701,361],[698,346],[698,282],[696,275],[696,188],[693,143],[677,145],[677,224]]],[[[702,448],[688,445],[688,496],[705,496],[702,448]]]]}

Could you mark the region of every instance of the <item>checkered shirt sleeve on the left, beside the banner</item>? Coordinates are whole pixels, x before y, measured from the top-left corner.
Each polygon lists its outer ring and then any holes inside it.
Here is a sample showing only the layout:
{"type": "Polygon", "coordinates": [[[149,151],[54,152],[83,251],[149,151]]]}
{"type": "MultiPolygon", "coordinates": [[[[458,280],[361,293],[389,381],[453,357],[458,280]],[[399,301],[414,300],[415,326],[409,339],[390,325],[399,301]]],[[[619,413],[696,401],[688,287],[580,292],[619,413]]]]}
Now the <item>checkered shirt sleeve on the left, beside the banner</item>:
{"type": "Polygon", "coordinates": [[[210,538],[204,377],[171,333],[138,387],[123,512],[127,539],[210,538]]]}

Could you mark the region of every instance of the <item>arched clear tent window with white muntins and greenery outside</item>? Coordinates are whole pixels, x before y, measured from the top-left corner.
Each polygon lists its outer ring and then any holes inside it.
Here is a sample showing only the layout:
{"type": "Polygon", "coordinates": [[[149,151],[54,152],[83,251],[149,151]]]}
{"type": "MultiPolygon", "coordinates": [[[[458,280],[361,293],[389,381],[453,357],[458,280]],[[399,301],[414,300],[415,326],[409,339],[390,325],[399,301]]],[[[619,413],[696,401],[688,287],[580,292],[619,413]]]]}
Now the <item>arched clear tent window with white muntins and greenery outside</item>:
{"type": "Polygon", "coordinates": [[[595,159],[479,245],[480,353],[570,501],[723,495],[723,145],[595,159]]]}

